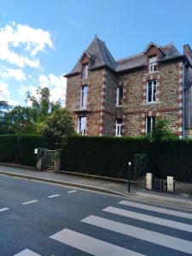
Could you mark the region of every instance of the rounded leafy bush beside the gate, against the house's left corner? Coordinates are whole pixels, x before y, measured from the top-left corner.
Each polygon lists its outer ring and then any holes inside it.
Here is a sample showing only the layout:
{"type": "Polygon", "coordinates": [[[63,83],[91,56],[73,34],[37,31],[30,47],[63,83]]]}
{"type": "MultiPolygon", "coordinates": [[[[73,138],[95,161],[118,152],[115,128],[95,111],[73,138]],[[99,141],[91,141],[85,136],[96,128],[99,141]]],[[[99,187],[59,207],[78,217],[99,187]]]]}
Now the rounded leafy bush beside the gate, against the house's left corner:
{"type": "Polygon", "coordinates": [[[38,132],[57,148],[67,143],[67,137],[75,134],[72,113],[66,108],[57,108],[38,127],[38,132]]]}

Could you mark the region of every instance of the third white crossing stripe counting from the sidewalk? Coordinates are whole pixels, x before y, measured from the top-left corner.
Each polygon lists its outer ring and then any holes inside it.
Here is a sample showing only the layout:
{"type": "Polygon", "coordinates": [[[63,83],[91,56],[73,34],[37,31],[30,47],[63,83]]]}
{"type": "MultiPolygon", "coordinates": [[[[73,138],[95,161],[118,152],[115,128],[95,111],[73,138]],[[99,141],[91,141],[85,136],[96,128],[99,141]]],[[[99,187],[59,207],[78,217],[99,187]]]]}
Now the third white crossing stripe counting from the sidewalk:
{"type": "Polygon", "coordinates": [[[192,252],[192,241],[186,241],[173,236],[160,234],[151,230],[144,230],[142,228],[137,228],[129,224],[123,224],[117,221],[109,220],[107,218],[96,217],[94,215],[90,215],[89,217],[84,218],[81,221],[86,224],[92,224],[97,227],[101,227],[102,229],[118,232],[125,236],[132,236],[143,241],[153,242],[154,244],[158,244],[163,247],[169,247],[183,253],[191,254],[192,252]]]}

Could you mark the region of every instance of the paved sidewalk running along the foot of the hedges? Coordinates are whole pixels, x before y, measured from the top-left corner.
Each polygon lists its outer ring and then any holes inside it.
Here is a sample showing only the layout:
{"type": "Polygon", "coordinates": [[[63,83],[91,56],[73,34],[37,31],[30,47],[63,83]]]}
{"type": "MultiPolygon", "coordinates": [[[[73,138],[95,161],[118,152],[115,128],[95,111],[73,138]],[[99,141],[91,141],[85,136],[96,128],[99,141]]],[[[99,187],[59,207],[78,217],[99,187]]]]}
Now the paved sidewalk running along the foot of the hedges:
{"type": "Polygon", "coordinates": [[[37,172],[25,167],[0,165],[0,174],[11,177],[23,177],[48,183],[57,183],[80,189],[90,189],[112,195],[129,196],[132,199],[151,201],[174,207],[184,207],[192,210],[192,197],[173,195],[155,191],[147,191],[131,184],[131,193],[128,193],[127,183],[113,182],[106,179],[80,177],[66,173],[37,172]]]}

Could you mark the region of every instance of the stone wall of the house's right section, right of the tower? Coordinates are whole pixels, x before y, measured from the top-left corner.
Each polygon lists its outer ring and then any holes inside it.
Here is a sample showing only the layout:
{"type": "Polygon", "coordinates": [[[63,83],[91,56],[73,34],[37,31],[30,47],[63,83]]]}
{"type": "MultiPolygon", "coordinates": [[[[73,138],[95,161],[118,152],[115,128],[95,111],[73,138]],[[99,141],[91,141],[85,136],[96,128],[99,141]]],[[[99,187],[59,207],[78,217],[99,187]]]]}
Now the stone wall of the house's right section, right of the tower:
{"type": "Polygon", "coordinates": [[[168,119],[170,128],[179,135],[178,123],[181,122],[182,109],[178,102],[179,61],[161,63],[160,70],[146,73],[146,69],[121,75],[119,81],[124,86],[123,135],[139,136],[145,131],[147,116],[168,119]],[[146,103],[146,85],[148,80],[157,80],[157,101],[146,103]]]}

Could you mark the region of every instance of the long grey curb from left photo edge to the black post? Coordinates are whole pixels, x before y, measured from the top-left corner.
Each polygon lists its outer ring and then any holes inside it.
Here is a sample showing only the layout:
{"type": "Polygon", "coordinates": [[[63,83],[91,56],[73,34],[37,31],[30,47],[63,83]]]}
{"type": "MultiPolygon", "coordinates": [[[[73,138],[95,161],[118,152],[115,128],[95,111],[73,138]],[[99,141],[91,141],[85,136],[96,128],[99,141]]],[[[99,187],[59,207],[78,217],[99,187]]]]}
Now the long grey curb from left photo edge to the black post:
{"type": "Polygon", "coordinates": [[[22,175],[22,174],[18,174],[15,172],[11,172],[11,173],[10,172],[0,172],[0,174],[7,175],[10,177],[21,177],[21,178],[26,178],[26,179],[32,179],[32,180],[37,180],[37,181],[41,181],[41,182],[45,182],[45,183],[59,184],[59,185],[67,186],[67,187],[88,189],[88,190],[102,192],[102,193],[106,193],[106,194],[110,194],[110,195],[121,195],[121,196],[129,197],[129,195],[125,195],[123,193],[119,193],[119,192],[113,191],[111,189],[103,189],[101,187],[94,187],[94,186],[84,185],[84,184],[80,184],[80,183],[63,182],[60,180],[54,180],[54,179],[49,179],[49,178],[44,178],[44,177],[34,177],[34,176],[29,176],[29,175],[22,175]]]}

